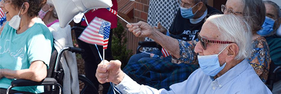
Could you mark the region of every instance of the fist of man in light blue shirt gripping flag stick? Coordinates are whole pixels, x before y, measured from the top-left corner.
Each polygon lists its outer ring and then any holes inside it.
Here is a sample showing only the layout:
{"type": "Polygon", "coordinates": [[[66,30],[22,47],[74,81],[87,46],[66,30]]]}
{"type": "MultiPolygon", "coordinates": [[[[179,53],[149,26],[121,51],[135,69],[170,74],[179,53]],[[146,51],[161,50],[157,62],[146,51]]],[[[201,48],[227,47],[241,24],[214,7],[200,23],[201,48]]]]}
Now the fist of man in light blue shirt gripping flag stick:
{"type": "Polygon", "coordinates": [[[101,61],[96,69],[96,78],[98,81],[103,84],[106,82],[113,82],[114,84],[119,84],[123,78],[125,73],[121,70],[121,61],[119,60],[111,60],[108,62],[107,60],[101,61]]]}

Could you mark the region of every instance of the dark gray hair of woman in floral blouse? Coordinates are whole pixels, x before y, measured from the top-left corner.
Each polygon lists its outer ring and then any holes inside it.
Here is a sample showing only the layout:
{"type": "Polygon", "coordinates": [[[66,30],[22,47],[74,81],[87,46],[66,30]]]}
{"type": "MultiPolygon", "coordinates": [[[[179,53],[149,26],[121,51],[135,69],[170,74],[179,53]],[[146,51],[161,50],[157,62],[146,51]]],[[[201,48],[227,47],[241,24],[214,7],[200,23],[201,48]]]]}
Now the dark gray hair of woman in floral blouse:
{"type": "Polygon", "coordinates": [[[262,0],[243,0],[244,11],[243,16],[247,23],[251,26],[252,33],[257,33],[262,29],[265,20],[265,6],[262,0]]]}

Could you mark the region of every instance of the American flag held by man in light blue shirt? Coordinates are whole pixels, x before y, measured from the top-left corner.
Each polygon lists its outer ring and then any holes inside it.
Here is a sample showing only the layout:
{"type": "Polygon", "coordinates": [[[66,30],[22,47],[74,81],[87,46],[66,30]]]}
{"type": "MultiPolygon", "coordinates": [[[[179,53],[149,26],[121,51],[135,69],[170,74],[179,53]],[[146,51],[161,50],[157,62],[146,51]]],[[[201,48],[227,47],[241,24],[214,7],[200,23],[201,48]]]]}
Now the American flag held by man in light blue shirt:
{"type": "Polygon", "coordinates": [[[111,23],[96,17],[81,33],[78,39],[89,44],[97,44],[107,49],[111,23]]]}

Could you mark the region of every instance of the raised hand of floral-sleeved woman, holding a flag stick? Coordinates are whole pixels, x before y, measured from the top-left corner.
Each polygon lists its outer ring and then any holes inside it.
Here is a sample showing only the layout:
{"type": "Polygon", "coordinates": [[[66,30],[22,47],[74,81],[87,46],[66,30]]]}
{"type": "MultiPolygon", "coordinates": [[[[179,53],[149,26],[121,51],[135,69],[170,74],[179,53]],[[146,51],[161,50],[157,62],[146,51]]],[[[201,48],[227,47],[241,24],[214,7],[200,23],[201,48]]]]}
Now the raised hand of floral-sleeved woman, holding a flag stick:
{"type": "Polygon", "coordinates": [[[139,21],[138,23],[131,23],[127,24],[128,30],[136,37],[149,37],[154,33],[154,28],[151,27],[149,24],[139,21]]]}

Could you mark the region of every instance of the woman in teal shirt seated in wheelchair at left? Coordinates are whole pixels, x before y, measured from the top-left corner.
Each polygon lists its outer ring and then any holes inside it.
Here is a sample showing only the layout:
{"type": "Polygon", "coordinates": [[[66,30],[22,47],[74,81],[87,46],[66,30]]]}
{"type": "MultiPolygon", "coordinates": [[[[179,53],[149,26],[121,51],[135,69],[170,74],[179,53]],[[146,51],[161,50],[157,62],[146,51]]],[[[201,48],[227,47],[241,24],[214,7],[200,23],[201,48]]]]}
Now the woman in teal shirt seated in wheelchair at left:
{"type": "MultiPolygon", "coordinates": [[[[53,36],[38,12],[46,0],[2,0],[2,8],[12,19],[0,35],[1,94],[14,79],[40,82],[47,75],[53,36]]],[[[43,86],[14,87],[14,92],[44,92],[43,86]]]]}

